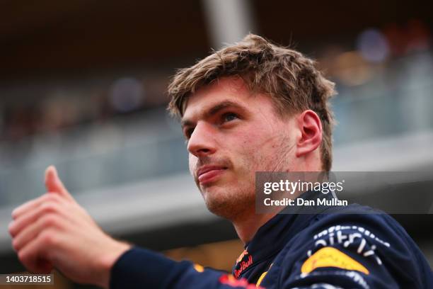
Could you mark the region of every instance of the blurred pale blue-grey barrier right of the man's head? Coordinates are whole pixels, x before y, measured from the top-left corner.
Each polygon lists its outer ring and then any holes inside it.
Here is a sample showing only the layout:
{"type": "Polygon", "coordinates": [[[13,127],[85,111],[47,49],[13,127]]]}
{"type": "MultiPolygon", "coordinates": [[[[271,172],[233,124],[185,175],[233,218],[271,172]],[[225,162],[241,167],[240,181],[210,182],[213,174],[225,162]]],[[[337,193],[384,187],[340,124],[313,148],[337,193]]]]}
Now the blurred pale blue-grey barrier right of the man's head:
{"type": "Polygon", "coordinates": [[[431,53],[376,67],[359,86],[338,85],[335,145],[433,128],[431,53]]]}

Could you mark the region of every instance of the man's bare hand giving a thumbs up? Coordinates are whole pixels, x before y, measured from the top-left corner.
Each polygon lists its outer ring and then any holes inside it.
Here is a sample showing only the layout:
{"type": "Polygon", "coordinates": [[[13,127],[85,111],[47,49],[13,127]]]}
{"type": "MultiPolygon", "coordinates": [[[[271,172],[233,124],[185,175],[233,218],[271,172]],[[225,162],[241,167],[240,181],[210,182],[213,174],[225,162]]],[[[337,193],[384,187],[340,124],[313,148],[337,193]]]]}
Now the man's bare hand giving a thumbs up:
{"type": "Polygon", "coordinates": [[[105,234],[69,194],[54,166],[45,171],[47,193],[12,212],[9,225],[18,259],[33,273],[57,268],[77,283],[108,288],[110,269],[129,244],[105,234]]]}

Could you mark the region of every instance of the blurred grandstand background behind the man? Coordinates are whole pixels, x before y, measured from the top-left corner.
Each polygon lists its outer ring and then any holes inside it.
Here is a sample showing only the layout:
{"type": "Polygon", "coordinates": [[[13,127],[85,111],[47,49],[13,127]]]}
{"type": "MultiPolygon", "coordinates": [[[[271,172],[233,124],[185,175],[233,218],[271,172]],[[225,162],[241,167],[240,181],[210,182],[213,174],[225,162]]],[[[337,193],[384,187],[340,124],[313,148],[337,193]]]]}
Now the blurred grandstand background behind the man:
{"type": "MultiPolygon", "coordinates": [[[[3,0],[0,19],[0,273],[24,270],[6,228],[45,193],[50,164],[110,234],[231,270],[243,245],[188,174],[166,86],[248,32],[313,57],[337,84],[334,171],[433,171],[422,1],[3,0]]],[[[432,215],[394,217],[432,264],[432,215]]]]}

